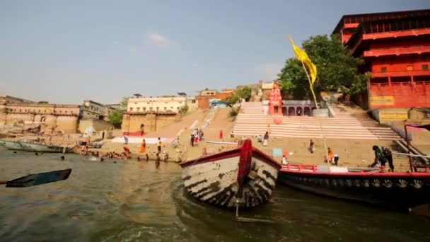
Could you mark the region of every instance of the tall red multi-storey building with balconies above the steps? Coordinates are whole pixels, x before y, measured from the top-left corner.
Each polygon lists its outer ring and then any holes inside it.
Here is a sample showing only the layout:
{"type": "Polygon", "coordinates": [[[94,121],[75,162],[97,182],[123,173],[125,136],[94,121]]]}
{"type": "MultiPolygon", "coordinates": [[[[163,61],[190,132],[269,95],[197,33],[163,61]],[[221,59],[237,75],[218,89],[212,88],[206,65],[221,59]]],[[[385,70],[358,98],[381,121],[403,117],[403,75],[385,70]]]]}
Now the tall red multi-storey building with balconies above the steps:
{"type": "Polygon", "coordinates": [[[333,33],[372,73],[364,108],[430,107],[430,9],[345,15],[333,33]]]}

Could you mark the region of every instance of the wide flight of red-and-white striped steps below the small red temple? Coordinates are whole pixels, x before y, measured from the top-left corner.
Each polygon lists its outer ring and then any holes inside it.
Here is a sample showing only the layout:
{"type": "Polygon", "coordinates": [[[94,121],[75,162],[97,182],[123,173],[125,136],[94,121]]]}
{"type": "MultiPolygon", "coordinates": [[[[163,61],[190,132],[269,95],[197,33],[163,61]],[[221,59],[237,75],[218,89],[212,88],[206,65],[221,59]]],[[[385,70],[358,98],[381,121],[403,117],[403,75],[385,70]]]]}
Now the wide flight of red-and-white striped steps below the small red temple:
{"type": "Polygon", "coordinates": [[[332,104],[335,117],[266,115],[262,103],[242,103],[233,132],[236,136],[263,135],[268,125],[271,137],[334,139],[401,139],[389,127],[380,127],[361,108],[332,104]],[[275,125],[274,118],[282,124],[275,125]]]}

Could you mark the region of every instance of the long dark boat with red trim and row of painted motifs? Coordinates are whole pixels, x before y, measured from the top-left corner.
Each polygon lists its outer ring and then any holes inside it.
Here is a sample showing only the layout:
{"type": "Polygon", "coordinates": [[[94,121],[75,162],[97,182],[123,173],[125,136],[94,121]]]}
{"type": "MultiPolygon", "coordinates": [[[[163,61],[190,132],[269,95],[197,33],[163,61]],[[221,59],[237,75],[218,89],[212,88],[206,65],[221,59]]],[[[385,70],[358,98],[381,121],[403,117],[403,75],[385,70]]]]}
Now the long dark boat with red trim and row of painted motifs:
{"type": "Polygon", "coordinates": [[[287,165],[279,171],[279,182],[318,195],[395,209],[430,204],[430,172],[353,172],[338,166],[287,165]]]}

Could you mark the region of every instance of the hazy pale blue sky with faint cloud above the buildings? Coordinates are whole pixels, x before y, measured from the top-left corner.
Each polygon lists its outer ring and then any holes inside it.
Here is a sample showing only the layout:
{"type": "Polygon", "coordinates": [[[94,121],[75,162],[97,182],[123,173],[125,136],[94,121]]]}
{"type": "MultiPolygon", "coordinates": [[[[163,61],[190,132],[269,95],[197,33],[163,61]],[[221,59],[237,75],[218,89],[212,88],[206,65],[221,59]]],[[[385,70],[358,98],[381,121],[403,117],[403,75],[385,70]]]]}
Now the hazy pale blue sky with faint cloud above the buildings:
{"type": "Polygon", "coordinates": [[[0,95],[50,103],[194,96],[272,81],[296,44],[345,14],[429,0],[0,0],[0,95]]]}

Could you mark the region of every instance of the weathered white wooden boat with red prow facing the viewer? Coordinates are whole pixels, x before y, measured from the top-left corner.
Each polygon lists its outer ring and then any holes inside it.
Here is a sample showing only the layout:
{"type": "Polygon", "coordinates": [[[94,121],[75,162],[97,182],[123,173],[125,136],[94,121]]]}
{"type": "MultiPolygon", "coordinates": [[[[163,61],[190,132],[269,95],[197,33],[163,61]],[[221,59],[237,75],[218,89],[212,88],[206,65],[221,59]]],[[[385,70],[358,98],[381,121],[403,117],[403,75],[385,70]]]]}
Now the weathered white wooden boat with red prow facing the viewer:
{"type": "Polygon", "coordinates": [[[281,165],[252,147],[180,163],[185,189],[199,200],[220,207],[255,207],[269,200],[281,165]]]}

